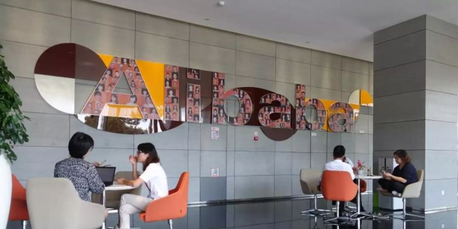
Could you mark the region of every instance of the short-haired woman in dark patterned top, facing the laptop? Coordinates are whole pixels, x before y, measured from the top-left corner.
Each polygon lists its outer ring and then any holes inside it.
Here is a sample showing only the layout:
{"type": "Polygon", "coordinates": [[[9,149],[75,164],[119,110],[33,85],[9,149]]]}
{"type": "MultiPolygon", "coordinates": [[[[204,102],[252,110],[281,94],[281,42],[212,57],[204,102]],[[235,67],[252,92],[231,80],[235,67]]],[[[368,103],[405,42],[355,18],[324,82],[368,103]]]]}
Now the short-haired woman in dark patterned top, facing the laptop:
{"type": "Polygon", "coordinates": [[[54,177],[69,179],[75,186],[79,197],[87,202],[91,201],[90,191],[102,193],[105,189],[105,185],[94,166],[98,166],[98,163],[84,160],[91,153],[93,147],[94,140],[91,136],[76,132],[68,142],[70,157],[59,161],[54,167],[54,177]]]}

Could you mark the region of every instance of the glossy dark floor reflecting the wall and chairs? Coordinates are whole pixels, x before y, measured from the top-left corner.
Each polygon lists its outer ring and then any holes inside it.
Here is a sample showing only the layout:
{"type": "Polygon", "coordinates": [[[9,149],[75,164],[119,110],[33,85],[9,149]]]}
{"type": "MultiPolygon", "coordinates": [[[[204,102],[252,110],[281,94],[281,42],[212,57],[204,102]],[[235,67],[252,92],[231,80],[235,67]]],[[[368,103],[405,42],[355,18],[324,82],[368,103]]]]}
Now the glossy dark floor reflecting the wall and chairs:
{"type": "MultiPolygon", "coordinates": [[[[363,195],[362,201],[366,209],[370,205],[371,195],[363,195]],[[367,207],[366,207],[367,206],[367,207]]],[[[355,225],[324,225],[323,218],[301,216],[300,212],[312,207],[310,199],[296,199],[274,202],[245,202],[238,204],[190,207],[185,218],[174,220],[174,228],[178,229],[214,229],[214,228],[240,228],[240,229],[308,229],[308,228],[363,228],[363,229],[436,229],[457,228],[457,211],[426,214],[424,221],[402,220],[361,220],[355,225]]],[[[330,209],[331,203],[319,199],[319,208],[330,209]]],[[[118,221],[117,214],[110,214],[107,226],[114,226],[118,221]]],[[[144,223],[138,220],[138,214],[132,217],[134,227],[167,229],[166,221],[144,223]]],[[[9,223],[7,228],[21,228],[19,224],[9,223]]]]}

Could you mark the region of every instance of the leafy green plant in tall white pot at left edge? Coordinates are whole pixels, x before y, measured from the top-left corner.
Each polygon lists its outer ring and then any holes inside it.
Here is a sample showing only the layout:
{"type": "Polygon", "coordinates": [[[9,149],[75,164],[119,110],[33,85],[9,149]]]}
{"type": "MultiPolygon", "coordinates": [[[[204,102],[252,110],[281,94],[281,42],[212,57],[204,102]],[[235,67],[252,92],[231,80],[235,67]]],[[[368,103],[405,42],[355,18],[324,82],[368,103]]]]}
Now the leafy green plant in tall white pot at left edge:
{"type": "Polygon", "coordinates": [[[21,110],[22,101],[9,84],[14,79],[6,67],[0,44],[0,228],[6,228],[11,203],[11,166],[17,159],[14,145],[28,141],[23,122],[28,120],[21,110]]]}

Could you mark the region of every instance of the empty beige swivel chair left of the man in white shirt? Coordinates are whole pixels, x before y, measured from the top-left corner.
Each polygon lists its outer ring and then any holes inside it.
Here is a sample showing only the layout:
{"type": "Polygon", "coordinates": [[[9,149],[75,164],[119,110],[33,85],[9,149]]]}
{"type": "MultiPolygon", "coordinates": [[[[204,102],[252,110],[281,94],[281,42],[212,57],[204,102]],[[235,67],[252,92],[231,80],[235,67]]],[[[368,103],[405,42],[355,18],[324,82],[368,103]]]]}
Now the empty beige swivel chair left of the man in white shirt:
{"type": "Polygon", "coordinates": [[[301,188],[304,194],[313,195],[314,199],[314,209],[302,211],[301,215],[327,215],[329,214],[329,210],[318,209],[317,207],[317,199],[318,194],[322,192],[318,190],[318,179],[320,179],[321,174],[323,171],[321,169],[314,169],[314,168],[302,168],[301,169],[301,188]]]}

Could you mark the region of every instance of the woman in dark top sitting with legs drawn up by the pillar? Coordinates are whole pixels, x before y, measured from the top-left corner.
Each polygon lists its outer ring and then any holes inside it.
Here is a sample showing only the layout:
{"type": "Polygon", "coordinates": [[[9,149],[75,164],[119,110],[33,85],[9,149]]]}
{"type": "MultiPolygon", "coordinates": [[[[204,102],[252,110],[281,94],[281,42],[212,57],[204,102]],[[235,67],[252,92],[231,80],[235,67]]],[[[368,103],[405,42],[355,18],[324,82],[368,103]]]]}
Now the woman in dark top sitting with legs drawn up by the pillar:
{"type": "Polygon", "coordinates": [[[393,169],[393,174],[383,173],[384,179],[379,180],[381,188],[379,191],[388,191],[397,195],[402,193],[404,188],[418,181],[417,170],[410,163],[410,157],[405,150],[396,150],[393,153],[394,160],[399,165],[393,169]]]}

